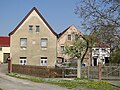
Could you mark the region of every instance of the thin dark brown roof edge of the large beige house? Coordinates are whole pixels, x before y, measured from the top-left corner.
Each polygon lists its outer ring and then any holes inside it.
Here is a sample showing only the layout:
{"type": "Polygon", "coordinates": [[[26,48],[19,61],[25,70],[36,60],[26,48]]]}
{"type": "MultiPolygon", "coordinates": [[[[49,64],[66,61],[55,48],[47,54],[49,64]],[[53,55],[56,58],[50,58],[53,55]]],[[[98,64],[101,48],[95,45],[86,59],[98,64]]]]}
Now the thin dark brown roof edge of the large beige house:
{"type": "Polygon", "coordinates": [[[33,10],[35,10],[37,12],[37,14],[41,17],[41,19],[44,21],[44,23],[48,26],[48,28],[52,31],[52,33],[57,36],[57,33],[51,28],[51,26],[47,23],[47,21],[43,18],[43,16],[40,14],[40,12],[35,8],[33,7],[30,12],[24,17],[24,19],[17,25],[17,27],[9,33],[9,36],[14,34],[15,31],[22,25],[22,23],[28,18],[28,16],[33,12],[33,10]]]}

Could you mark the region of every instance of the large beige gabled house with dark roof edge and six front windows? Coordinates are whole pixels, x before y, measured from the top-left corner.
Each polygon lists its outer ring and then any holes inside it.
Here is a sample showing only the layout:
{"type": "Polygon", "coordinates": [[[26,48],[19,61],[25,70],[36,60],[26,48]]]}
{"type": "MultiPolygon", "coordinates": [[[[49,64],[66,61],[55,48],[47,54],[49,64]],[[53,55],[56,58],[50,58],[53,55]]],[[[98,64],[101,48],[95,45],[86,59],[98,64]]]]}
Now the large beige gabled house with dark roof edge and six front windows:
{"type": "Polygon", "coordinates": [[[57,34],[35,7],[9,36],[12,64],[55,66],[57,34]]]}

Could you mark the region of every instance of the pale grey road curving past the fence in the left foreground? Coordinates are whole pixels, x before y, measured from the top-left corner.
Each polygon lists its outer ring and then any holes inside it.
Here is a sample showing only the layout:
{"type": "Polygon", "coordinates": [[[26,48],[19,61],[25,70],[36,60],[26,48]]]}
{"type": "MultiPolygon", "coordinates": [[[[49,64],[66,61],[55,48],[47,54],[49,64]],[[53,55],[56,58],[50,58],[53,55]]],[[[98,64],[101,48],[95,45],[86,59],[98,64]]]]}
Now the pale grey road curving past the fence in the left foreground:
{"type": "Polygon", "coordinates": [[[7,64],[2,64],[0,66],[0,88],[3,90],[68,90],[57,85],[34,83],[28,80],[13,78],[5,75],[6,72],[7,64]]]}

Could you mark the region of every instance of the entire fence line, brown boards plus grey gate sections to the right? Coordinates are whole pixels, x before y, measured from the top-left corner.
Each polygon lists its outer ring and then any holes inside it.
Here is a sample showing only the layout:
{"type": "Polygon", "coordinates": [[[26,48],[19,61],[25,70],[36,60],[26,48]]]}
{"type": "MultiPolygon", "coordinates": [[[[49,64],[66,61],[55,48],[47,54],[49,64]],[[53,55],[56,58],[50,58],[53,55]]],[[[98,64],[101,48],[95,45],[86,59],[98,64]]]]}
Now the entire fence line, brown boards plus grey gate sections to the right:
{"type": "MultiPolygon", "coordinates": [[[[102,79],[120,79],[120,66],[102,66],[102,79]]],[[[77,68],[47,68],[41,66],[12,65],[12,72],[43,78],[77,77],[77,68]]],[[[82,78],[98,79],[98,67],[82,67],[82,78]]]]}

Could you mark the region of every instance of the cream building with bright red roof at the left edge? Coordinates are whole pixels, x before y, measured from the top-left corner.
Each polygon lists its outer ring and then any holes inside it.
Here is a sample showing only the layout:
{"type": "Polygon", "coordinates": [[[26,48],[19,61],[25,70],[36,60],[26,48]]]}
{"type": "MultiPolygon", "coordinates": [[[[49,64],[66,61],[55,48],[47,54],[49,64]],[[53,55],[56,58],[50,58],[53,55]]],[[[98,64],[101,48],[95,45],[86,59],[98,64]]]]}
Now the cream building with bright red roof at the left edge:
{"type": "Polygon", "coordinates": [[[10,56],[10,38],[7,36],[0,36],[0,62],[4,63],[10,56]]]}

